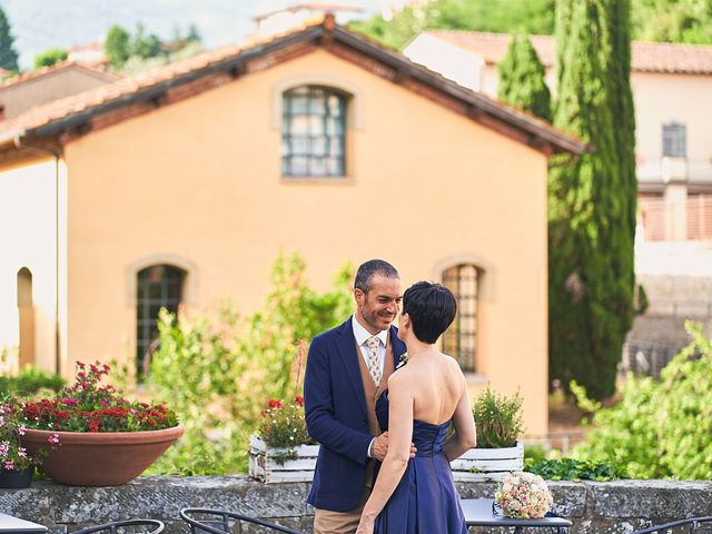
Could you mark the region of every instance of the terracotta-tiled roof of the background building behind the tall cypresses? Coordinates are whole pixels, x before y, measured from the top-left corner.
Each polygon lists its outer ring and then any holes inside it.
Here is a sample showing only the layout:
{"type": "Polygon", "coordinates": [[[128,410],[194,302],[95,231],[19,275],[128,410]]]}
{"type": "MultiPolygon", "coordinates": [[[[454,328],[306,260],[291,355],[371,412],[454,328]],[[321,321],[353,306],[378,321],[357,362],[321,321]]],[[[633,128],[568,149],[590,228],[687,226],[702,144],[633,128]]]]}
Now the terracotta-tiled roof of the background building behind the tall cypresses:
{"type": "MultiPolygon", "coordinates": [[[[477,52],[487,63],[497,63],[504,57],[511,39],[506,33],[482,31],[428,30],[425,33],[477,52]]],[[[531,39],[542,62],[552,67],[554,38],[531,36],[531,39]]],[[[631,67],[637,72],[712,75],[712,46],[633,41],[631,52],[631,67]]]]}

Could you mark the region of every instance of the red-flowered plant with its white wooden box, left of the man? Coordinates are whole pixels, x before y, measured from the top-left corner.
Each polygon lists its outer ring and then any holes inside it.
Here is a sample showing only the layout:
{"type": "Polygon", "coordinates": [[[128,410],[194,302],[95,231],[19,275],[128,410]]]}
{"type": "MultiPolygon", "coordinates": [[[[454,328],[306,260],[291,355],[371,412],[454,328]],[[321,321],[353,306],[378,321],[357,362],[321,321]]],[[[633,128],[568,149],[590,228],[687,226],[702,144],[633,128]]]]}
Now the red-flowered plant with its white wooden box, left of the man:
{"type": "Polygon", "coordinates": [[[261,413],[258,435],[249,437],[249,474],[265,483],[309,482],[319,446],[307,434],[304,398],[270,399],[261,413]]]}

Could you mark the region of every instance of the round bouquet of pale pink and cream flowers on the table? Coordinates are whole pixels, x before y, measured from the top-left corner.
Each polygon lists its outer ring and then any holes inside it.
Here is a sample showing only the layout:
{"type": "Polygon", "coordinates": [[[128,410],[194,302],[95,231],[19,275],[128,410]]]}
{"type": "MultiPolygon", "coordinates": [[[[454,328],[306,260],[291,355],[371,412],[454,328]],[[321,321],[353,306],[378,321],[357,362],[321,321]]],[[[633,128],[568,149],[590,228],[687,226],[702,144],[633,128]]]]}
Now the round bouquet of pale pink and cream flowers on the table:
{"type": "Polygon", "coordinates": [[[507,517],[528,520],[544,517],[554,500],[541,476],[516,472],[504,476],[494,502],[507,517]]]}

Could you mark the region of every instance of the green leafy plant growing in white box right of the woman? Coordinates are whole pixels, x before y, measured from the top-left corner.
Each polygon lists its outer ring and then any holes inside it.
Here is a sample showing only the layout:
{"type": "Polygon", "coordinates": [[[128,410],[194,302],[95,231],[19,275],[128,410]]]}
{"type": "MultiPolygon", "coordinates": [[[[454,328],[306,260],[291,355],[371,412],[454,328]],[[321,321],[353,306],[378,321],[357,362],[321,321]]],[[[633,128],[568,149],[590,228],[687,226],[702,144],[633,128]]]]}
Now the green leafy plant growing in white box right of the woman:
{"type": "Polygon", "coordinates": [[[473,406],[477,427],[477,448],[513,447],[522,434],[522,395],[497,395],[487,388],[473,406]]]}

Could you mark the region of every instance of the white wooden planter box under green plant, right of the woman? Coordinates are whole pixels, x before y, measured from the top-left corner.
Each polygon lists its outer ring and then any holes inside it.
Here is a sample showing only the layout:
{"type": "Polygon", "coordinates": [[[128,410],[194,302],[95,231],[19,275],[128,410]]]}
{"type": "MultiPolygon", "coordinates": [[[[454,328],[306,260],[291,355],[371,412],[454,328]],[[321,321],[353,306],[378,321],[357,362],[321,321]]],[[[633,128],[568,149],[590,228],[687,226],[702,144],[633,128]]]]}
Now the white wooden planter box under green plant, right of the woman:
{"type": "Polygon", "coordinates": [[[498,481],[506,473],[524,468],[524,445],[504,448],[471,448],[451,462],[455,481],[498,481]]]}

